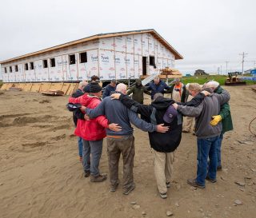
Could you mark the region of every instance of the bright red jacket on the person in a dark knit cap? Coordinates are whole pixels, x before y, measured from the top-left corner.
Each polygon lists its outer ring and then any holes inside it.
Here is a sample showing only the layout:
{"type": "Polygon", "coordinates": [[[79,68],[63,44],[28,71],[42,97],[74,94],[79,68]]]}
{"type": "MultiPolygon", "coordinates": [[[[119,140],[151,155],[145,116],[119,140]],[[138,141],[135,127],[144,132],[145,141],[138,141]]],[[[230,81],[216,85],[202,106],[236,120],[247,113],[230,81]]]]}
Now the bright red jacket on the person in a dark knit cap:
{"type": "MultiPolygon", "coordinates": [[[[80,97],[70,97],[69,102],[80,103],[90,109],[94,109],[101,103],[101,100],[96,96],[88,96],[84,94],[80,97]]],[[[98,116],[90,121],[78,119],[77,128],[74,130],[74,134],[78,137],[82,137],[86,141],[101,140],[106,137],[107,127],[108,120],[105,116],[98,116]]]]}

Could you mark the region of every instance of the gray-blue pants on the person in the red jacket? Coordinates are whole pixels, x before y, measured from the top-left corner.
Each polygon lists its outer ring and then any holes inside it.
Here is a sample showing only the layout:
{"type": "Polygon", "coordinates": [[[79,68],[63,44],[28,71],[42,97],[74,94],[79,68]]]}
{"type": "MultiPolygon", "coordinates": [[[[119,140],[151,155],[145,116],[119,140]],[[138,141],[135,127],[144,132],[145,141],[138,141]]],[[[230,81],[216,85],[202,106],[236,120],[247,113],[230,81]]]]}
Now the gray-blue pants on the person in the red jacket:
{"type": "Polygon", "coordinates": [[[82,156],[82,165],[84,171],[89,171],[93,176],[98,176],[99,170],[98,165],[102,157],[102,140],[98,141],[86,141],[82,140],[83,144],[83,156],[82,156]]]}

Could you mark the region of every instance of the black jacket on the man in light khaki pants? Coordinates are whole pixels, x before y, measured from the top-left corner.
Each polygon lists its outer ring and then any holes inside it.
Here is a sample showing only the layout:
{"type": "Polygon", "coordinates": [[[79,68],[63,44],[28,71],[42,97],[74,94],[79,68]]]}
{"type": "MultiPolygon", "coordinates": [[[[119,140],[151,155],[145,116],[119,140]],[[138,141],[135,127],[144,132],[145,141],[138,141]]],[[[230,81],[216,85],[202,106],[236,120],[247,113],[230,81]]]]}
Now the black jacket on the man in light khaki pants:
{"type": "Polygon", "coordinates": [[[166,109],[174,103],[172,99],[158,97],[151,105],[142,105],[130,99],[129,96],[122,94],[120,101],[135,113],[140,113],[142,119],[146,122],[154,125],[165,124],[166,126],[170,126],[170,129],[166,133],[149,133],[151,148],[160,153],[170,153],[177,149],[182,139],[182,117],[178,115],[170,124],[163,121],[166,109]],[[180,121],[178,121],[179,119],[180,121]]]}

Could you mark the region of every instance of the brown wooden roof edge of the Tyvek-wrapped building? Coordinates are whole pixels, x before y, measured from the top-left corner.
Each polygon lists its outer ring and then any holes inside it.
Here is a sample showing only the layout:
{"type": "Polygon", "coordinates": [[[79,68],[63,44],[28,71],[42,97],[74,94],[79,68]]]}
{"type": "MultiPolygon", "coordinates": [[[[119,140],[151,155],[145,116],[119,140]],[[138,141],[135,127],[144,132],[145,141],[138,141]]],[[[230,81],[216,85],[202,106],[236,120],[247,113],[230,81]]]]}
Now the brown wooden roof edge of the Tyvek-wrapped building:
{"type": "Polygon", "coordinates": [[[159,42],[161,42],[164,46],[166,46],[166,48],[168,50],[170,50],[171,53],[174,54],[175,59],[183,59],[182,55],[178,53],[177,50],[174,50],[174,48],[172,46],[170,46],[170,44],[168,42],[166,42],[166,40],[164,38],[162,38],[162,36],[160,34],[158,34],[157,31],[155,31],[154,29],[149,29],[149,30],[132,30],[132,31],[125,31],[125,32],[116,32],[116,33],[108,33],[108,34],[97,34],[97,35],[93,35],[87,38],[81,38],[72,42],[67,42],[58,46],[53,46],[50,47],[48,49],[45,50],[39,50],[33,53],[29,53],[29,54],[24,54],[22,56],[18,56],[18,57],[14,57],[14,58],[10,58],[7,59],[5,61],[0,61],[0,64],[6,63],[6,62],[10,62],[10,61],[16,61],[18,59],[22,59],[25,57],[30,57],[30,56],[34,56],[37,54],[43,54],[52,50],[58,50],[67,46],[74,46],[78,43],[82,43],[82,42],[88,42],[91,40],[95,40],[95,39],[99,39],[99,38],[110,38],[110,37],[117,37],[117,36],[124,36],[124,35],[130,35],[130,34],[152,34],[154,36],[154,38],[158,39],[159,42]]]}

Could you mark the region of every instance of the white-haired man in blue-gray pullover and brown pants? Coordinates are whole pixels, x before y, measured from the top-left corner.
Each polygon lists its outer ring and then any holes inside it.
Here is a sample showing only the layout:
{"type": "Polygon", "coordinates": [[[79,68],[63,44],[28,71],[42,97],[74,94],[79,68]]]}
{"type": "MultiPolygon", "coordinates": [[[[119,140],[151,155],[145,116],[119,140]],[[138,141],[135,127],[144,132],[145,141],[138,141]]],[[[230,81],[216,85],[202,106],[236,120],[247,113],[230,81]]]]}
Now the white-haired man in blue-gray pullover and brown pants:
{"type": "MultiPolygon", "coordinates": [[[[126,85],[120,83],[117,85],[117,93],[126,94],[126,85]]],[[[110,192],[115,192],[118,188],[118,162],[122,153],[123,160],[123,194],[128,195],[135,188],[134,184],[134,129],[130,122],[139,129],[146,132],[165,133],[168,127],[162,125],[154,125],[142,121],[138,115],[127,109],[120,101],[112,101],[111,97],[105,97],[95,109],[85,109],[86,114],[90,118],[105,115],[110,123],[114,122],[122,127],[120,132],[113,132],[106,129],[107,154],[110,168],[110,192]]]]}

